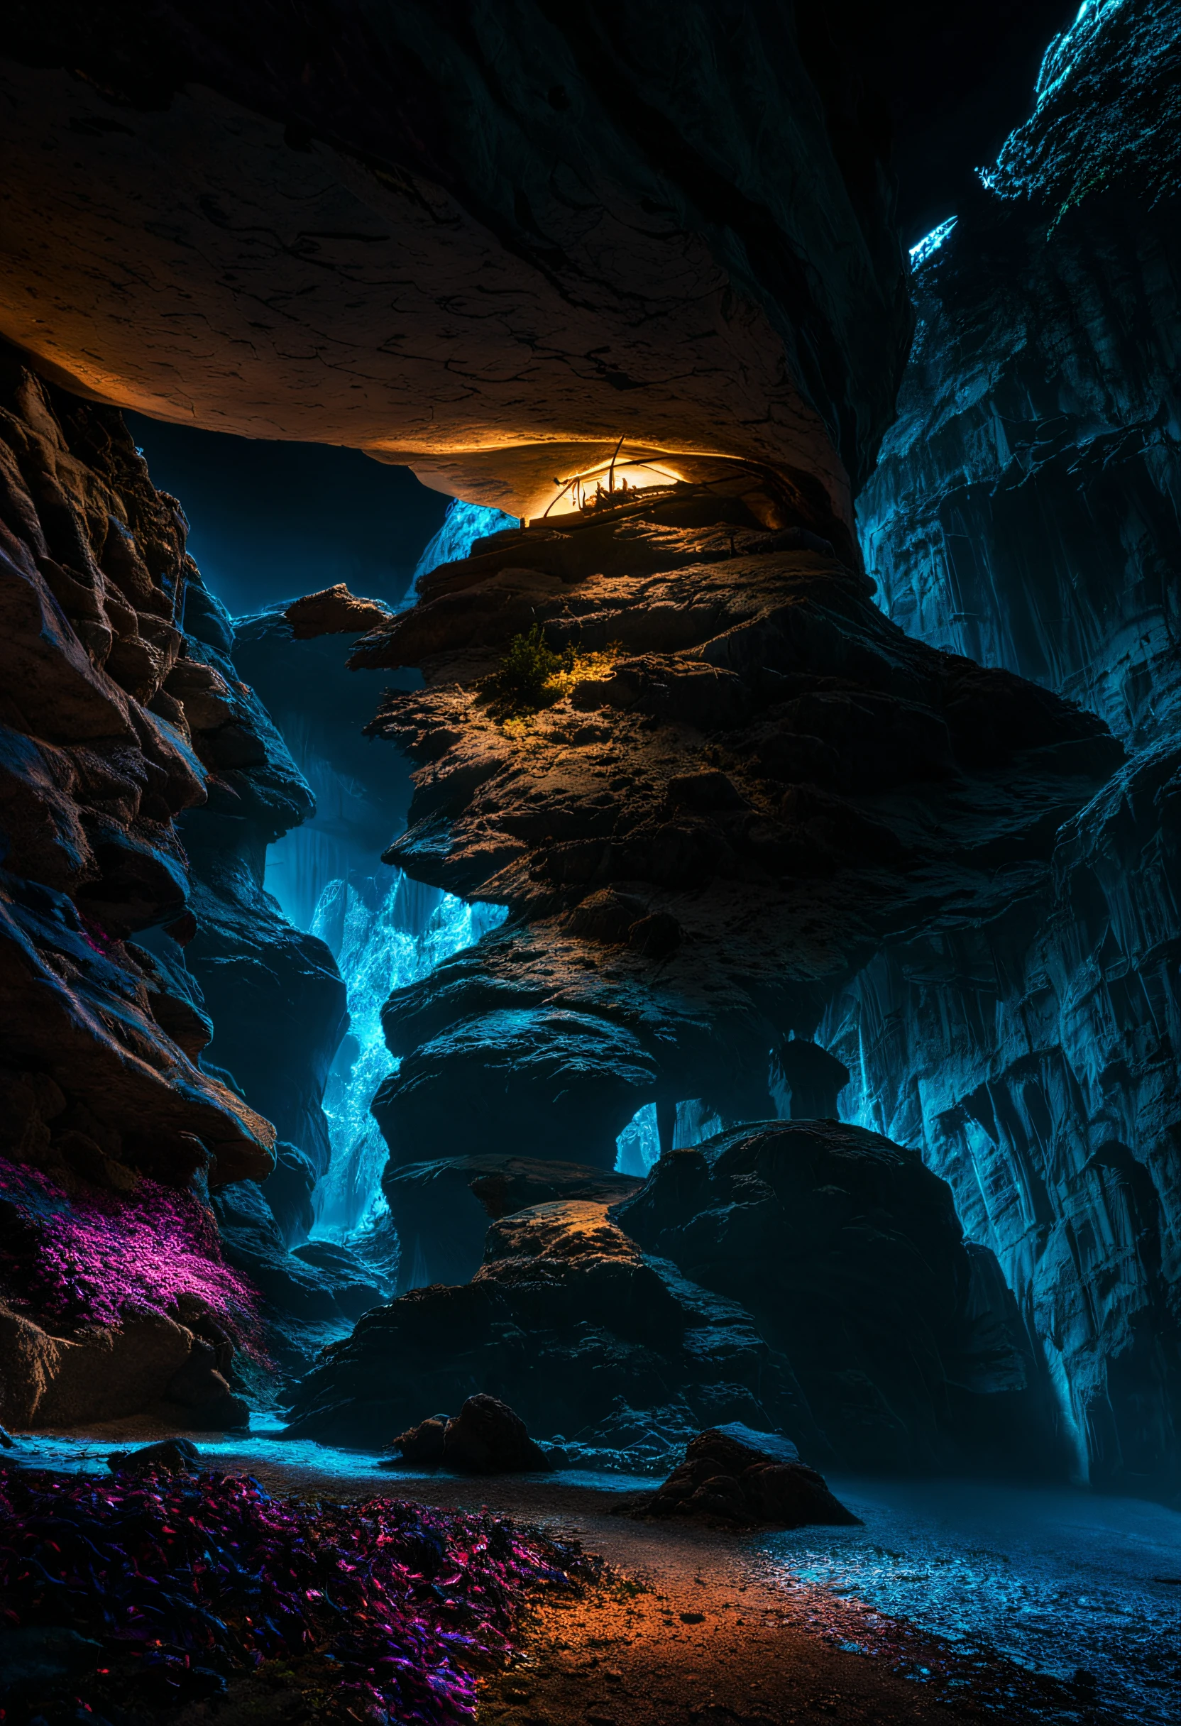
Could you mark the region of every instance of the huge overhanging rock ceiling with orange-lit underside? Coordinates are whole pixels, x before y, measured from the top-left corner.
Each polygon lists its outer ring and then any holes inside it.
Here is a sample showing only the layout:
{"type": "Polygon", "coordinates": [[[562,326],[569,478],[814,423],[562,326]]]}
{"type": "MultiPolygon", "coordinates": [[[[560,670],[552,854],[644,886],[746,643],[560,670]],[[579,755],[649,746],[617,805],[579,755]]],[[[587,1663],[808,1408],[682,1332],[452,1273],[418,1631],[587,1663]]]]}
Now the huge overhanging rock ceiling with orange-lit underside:
{"type": "Polygon", "coordinates": [[[528,516],[720,452],[848,526],[910,314],[820,19],[47,0],[0,48],[0,328],[76,387],[528,516]]]}

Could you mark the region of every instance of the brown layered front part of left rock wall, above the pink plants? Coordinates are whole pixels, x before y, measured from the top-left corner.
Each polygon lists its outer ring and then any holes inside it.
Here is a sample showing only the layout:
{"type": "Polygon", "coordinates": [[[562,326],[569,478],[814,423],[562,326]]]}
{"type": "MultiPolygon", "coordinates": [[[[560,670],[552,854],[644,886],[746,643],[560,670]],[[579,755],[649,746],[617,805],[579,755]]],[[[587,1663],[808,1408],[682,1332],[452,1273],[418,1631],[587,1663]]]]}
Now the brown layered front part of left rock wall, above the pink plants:
{"type": "Polygon", "coordinates": [[[261,1179],[275,1131],[202,1070],[211,1027],[174,984],[193,934],[176,818],[207,803],[233,730],[228,706],[207,728],[221,678],[176,621],[195,580],[183,518],[117,414],[10,357],[2,388],[10,1150],[88,1175],[261,1179]],[[161,929],[174,961],[142,946],[161,929]]]}

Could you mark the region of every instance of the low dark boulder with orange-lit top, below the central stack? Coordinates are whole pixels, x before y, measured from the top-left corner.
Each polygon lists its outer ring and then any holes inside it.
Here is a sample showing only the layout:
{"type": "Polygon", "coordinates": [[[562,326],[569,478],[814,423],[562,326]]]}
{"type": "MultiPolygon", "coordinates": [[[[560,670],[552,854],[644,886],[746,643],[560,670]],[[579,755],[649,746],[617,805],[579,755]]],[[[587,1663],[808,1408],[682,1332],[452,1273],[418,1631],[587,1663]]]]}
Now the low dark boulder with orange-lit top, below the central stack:
{"type": "Polygon", "coordinates": [[[675,1403],[689,1431],[746,1420],[812,1438],[791,1367],[749,1315],[646,1258],[606,1210],[566,1200],[492,1224],[470,1282],[411,1289],[325,1351],[288,1434],[387,1446],[423,1408],[489,1395],[530,1433],[590,1445],[609,1445],[599,1427],[616,1403],[646,1429],[675,1403]]]}

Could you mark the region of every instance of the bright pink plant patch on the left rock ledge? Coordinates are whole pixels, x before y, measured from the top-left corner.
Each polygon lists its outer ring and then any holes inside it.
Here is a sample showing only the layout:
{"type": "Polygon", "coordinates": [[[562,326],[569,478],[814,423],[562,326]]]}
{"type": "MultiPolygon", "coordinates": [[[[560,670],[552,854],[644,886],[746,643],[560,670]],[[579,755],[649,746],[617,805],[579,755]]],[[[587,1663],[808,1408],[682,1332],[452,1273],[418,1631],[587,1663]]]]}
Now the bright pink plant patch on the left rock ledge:
{"type": "Polygon", "coordinates": [[[81,1184],[67,1194],[0,1158],[0,1284],[31,1312],[73,1324],[167,1313],[193,1294],[240,1341],[257,1341],[257,1294],[223,1260],[212,1217],[155,1181],[133,1198],[81,1184]]]}

